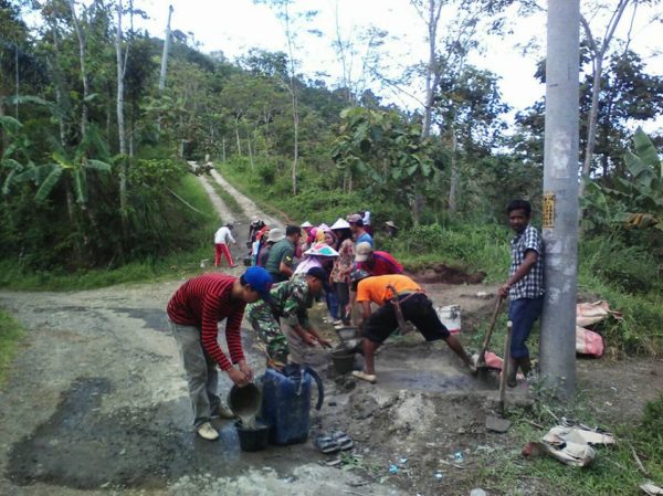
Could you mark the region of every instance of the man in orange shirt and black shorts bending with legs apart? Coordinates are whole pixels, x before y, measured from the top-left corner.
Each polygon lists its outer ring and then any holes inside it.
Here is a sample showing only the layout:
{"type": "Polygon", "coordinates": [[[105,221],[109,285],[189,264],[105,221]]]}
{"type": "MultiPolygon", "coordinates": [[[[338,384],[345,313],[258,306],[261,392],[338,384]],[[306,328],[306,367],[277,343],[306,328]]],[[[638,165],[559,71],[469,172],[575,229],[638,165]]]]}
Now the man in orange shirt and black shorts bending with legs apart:
{"type": "Polygon", "coordinates": [[[364,330],[364,370],[356,370],[352,376],[371,383],[376,381],[375,353],[398,327],[396,309],[391,303],[394,295],[389,286],[396,289],[403,319],[411,321],[427,341],[444,339],[461,360],[474,370],[463,345],[440,321],[432,302],[410,277],[401,274],[370,277],[365,271],[354,271],[350,279],[357,284],[357,303],[361,305],[362,318],[359,327],[364,330]],[[375,314],[370,310],[371,302],[380,306],[375,314]]]}

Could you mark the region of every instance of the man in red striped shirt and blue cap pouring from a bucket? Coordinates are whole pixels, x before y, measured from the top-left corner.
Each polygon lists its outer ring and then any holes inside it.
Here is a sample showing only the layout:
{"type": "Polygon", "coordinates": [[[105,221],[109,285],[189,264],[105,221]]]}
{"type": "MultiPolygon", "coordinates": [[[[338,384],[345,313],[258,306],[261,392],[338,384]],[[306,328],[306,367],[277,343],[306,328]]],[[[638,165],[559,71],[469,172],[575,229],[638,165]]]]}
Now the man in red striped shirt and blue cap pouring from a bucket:
{"type": "Polygon", "coordinates": [[[262,267],[250,267],[240,278],[202,274],[182,284],[168,302],[170,329],[187,373],[193,426],[206,440],[219,437],[211,419],[233,416],[217,393],[217,366],[240,387],[253,379],[242,350],[240,325],[246,304],[269,299],[271,286],[272,277],[262,267]],[[218,324],[223,319],[230,360],[217,341],[218,324]]]}

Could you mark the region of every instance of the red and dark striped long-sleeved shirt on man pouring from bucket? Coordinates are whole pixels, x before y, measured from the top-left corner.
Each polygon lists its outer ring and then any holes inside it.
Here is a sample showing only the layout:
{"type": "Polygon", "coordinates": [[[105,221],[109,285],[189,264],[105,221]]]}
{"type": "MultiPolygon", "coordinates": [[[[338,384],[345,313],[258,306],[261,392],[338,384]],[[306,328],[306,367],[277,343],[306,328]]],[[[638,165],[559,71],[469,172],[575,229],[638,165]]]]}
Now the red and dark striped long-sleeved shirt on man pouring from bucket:
{"type": "Polygon", "coordinates": [[[244,359],[240,325],[246,303],[232,299],[232,285],[236,277],[211,273],[187,281],[172,295],[166,312],[175,324],[194,326],[201,329],[200,340],[206,352],[213,358],[221,370],[228,370],[232,363],[244,359]],[[232,363],[225,357],[219,342],[218,323],[227,318],[225,342],[232,363]]]}

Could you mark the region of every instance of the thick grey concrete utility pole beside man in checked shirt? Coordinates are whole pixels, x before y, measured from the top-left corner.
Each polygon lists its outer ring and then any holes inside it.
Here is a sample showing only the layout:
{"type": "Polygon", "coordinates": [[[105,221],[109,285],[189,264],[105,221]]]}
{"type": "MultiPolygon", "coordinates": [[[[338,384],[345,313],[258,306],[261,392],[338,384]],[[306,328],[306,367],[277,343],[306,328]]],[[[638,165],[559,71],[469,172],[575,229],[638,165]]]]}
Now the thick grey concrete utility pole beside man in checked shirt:
{"type": "Polygon", "coordinates": [[[566,398],[576,390],[579,31],[579,0],[549,0],[540,367],[544,378],[566,398]]]}

